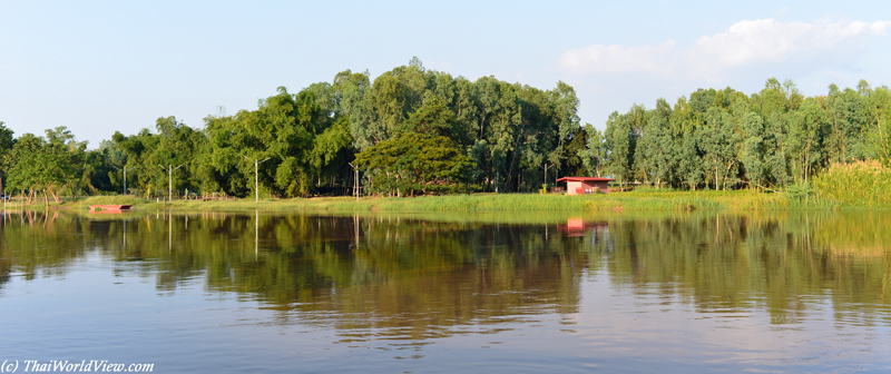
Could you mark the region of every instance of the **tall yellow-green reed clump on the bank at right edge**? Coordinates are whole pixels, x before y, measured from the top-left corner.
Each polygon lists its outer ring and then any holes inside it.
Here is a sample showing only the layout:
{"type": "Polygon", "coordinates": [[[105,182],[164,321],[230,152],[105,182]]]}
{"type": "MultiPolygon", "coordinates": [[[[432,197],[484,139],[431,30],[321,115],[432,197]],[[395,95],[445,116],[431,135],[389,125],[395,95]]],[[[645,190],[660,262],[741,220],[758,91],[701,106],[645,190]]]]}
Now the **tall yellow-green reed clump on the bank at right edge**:
{"type": "Polygon", "coordinates": [[[812,180],[819,199],[842,207],[891,208],[891,168],[879,161],[833,164],[812,180]]]}

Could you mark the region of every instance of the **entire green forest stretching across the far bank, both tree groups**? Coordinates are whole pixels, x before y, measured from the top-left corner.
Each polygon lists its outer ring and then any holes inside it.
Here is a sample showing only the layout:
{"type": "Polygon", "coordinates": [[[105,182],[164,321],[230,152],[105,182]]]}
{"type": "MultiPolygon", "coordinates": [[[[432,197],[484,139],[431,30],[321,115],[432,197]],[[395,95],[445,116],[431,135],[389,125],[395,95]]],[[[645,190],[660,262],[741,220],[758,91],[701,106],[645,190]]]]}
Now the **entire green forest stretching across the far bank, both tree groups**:
{"type": "Polygon", "coordinates": [[[345,70],[202,127],[160,117],[96,149],[66,127],[14,137],[0,122],[0,183],[49,201],[123,193],[173,198],[362,194],[417,196],[539,190],[561,176],[620,186],[782,189],[832,165],[891,158],[891,92],[829,87],[804,97],[768,79],[745,95],[698,89],[674,105],[613,112],[603,131],[577,115],[574,88],[550,90],[425,69],[420,60],[371,79],[345,70]],[[256,167],[256,169],[255,169],[256,167]],[[255,174],[256,173],[256,174],[255,174]],[[255,184],[256,175],[256,184],[255,184]]]}

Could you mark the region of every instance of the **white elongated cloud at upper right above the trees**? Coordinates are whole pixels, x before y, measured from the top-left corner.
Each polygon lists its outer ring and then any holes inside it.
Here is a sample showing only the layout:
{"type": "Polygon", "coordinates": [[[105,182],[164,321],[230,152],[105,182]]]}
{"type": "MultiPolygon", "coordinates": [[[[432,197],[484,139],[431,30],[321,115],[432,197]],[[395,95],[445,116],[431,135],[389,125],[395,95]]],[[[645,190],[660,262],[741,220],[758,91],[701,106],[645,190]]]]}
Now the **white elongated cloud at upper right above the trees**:
{"type": "Polygon", "coordinates": [[[850,63],[862,55],[870,37],[884,35],[889,28],[891,21],[744,20],[724,32],[699,37],[688,48],[674,40],[642,47],[593,45],[566,51],[560,66],[577,75],[648,72],[709,81],[765,66],[824,69],[850,63]]]}

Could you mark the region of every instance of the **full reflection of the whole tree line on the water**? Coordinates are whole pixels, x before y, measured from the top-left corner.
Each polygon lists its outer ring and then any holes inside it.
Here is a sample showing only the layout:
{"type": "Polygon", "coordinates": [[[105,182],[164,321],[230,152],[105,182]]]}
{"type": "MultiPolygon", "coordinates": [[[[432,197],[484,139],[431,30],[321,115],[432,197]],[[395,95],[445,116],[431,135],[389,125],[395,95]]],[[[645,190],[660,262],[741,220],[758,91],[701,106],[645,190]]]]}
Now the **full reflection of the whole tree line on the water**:
{"type": "Polygon", "coordinates": [[[639,301],[676,299],[699,316],[763,312],[776,326],[802,325],[826,304],[840,325],[888,325],[891,303],[888,214],[539,224],[260,211],[2,218],[0,291],[16,276],[63,275],[98,250],[160,292],[199,279],[209,292],[261,302],[275,324],[334,328],[343,343],[493,333],[544,315],[569,326],[579,319],[569,316],[585,315],[582,288],[597,276],[639,301]]]}

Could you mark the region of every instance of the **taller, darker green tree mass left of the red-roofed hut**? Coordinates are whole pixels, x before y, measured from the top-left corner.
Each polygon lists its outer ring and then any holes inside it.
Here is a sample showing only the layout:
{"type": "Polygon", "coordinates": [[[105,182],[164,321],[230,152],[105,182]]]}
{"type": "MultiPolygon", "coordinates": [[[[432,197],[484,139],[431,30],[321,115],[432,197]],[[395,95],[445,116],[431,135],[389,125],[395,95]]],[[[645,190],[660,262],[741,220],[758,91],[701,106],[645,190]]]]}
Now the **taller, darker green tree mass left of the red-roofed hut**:
{"type": "Polygon", "coordinates": [[[166,168],[179,165],[175,190],[247,196],[254,159],[266,160],[256,177],[262,196],[346,193],[355,184],[351,164],[376,194],[532,190],[545,164],[551,179],[584,171],[570,149],[584,147],[578,104],[564,82],[540,90],[493,77],[471,81],[415,58],[373,81],[346,70],[297,94],[280,87],[256,110],[208,116],[203,128],[158,118],[154,129],[117,131],[96,150],[63,127],[18,139],[6,131],[2,173],[8,189],[29,197],[120,191],[125,169],[131,193],[153,196],[167,189],[166,168]]]}

